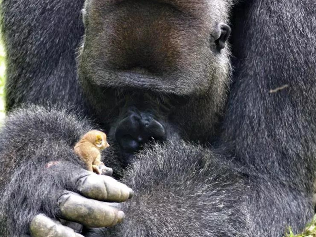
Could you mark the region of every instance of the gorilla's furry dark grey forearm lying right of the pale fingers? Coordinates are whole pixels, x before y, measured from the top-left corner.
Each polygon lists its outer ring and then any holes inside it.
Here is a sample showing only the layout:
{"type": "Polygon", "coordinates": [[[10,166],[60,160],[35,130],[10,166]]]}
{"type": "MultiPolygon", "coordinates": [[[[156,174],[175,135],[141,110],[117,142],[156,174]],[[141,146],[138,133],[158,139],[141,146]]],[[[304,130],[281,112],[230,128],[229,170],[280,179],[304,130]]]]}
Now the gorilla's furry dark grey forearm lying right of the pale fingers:
{"type": "Polygon", "coordinates": [[[125,204],[125,221],[86,236],[281,237],[312,216],[311,197],[282,177],[245,173],[184,142],[144,150],[126,174],[135,196],[125,204]]]}

